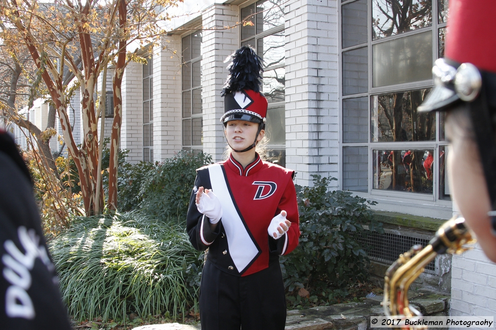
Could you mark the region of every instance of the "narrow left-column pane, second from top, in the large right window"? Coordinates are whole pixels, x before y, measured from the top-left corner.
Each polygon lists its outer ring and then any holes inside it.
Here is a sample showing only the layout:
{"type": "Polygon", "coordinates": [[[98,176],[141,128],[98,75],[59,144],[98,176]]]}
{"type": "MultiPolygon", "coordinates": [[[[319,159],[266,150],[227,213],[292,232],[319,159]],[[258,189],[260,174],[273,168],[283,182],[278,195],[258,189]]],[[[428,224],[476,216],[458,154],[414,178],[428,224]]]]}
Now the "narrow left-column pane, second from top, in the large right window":
{"type": "Polygon", "coordinates": [[[367,93],[367,47],[343,52],[343,95],[367,93]]]}

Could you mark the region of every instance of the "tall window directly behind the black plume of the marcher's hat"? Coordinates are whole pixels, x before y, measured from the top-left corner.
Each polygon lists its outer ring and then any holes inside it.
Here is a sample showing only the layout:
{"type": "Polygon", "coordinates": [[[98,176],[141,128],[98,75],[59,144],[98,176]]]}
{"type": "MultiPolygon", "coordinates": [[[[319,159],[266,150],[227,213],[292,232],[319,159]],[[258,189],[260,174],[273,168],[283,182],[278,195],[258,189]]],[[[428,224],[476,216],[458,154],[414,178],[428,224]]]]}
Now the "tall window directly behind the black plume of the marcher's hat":
{"type": "Polygon", "coordinates": [[[256,49],[263,59],[262,93],[268,101],[265,134],[268,161],[286,166],[284,4],[261,0],[241,8],[241,46],[256,49]]]}

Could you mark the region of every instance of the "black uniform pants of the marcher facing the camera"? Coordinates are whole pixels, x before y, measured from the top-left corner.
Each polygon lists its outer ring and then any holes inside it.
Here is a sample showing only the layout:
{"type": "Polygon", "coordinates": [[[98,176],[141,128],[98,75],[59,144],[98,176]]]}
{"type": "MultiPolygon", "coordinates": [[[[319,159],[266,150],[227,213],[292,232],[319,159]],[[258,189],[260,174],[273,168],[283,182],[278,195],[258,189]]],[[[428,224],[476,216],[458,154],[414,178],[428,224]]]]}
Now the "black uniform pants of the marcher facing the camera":
{"type": "Polygon", "coordinates": [[[244,277],[207,260],[200,286],[201,330],[284,330],[286,297],[279,262],[244,277]]]}

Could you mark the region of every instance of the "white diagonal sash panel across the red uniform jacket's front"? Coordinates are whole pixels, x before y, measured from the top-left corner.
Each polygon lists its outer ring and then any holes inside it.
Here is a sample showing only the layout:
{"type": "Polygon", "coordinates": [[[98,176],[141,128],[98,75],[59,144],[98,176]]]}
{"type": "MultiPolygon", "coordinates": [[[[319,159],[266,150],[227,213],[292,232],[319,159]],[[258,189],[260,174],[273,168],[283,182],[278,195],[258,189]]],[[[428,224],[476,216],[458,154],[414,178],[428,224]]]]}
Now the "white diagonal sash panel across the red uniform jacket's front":
{"type": "Polygon", "coordinates": [[[241,273],[259,251],[234,206],[221,165],[210,165],[208,173],[212,190],[222,205],[222,225],[226,230],[229,253],[238,272],[241,273]]]}

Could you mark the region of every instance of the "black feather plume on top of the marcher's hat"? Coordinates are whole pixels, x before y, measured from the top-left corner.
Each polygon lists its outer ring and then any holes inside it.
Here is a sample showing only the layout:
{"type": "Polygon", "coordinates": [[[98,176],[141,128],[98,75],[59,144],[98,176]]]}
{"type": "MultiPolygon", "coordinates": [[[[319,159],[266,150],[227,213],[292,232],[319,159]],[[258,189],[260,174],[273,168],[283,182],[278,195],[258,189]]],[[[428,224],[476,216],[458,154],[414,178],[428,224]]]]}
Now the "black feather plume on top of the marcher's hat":
{"type": "Polygon", "coordinates": [[[249,46],[236,50],[231,55],[231,63],[227,67],[229,75],[221,96],[241,90],[260,92],[262,62],[262,58],[257,55],[255,49],[249,46]]]}

